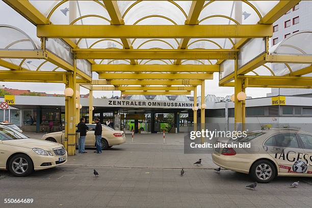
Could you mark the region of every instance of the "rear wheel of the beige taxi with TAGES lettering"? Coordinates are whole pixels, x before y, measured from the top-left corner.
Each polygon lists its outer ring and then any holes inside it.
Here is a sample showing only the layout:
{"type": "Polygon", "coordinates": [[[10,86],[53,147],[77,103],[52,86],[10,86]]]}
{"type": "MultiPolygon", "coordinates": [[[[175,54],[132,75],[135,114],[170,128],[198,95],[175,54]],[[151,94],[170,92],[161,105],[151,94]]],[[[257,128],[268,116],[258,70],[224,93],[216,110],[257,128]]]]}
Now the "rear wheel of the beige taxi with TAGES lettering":
{"type": "Polygon", "coordinates": [[[275,178],[276,170],[271,161],[261,159],[252,165],[249,173],[255,181],[268,183],[275,178]]]}

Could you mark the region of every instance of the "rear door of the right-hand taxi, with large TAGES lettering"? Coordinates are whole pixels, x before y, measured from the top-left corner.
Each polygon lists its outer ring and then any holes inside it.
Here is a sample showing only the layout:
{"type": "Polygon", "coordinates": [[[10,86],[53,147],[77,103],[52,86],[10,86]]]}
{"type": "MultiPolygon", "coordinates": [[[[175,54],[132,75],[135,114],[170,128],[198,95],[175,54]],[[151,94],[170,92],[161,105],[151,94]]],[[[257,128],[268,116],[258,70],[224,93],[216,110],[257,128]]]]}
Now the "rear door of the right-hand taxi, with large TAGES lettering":
{"type": "Polygon", "coordinates": [[[278,133],[271,136],[265,143],[267,152],[275,159],[280,173],[301,173],[298,167],[304,155],[301,143],[295,132],[278,133]]]}

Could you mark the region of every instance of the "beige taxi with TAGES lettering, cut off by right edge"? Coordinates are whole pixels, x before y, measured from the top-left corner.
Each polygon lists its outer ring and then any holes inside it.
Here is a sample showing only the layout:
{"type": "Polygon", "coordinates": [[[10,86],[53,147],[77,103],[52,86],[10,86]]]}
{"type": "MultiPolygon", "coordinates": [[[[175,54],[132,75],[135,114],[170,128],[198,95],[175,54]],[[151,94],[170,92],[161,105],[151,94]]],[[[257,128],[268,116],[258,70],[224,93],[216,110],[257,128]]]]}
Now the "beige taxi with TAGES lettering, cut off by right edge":
{"type": "Polygon", "coordinates": [[[312,134],[296,129],[254,131],[227,144],[250,143],[250,148],[215,148],[214,163],[249,174],[267,183],[276,176],[312,177],[312,134]]]}

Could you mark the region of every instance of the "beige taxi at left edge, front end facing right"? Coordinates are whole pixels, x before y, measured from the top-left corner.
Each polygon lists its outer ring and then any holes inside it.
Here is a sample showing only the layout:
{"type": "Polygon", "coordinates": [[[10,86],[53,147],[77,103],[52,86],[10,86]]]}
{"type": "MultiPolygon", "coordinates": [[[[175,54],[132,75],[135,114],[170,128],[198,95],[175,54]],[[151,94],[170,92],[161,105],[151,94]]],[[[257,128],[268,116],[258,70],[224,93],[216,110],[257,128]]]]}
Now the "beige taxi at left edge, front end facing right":
{"type": "Polygon", "coordinates": [[[0,169],[15,176],[56,167],[67,161],[63,145],[35,140],[6,125],[0,125],[0,169]]]}

